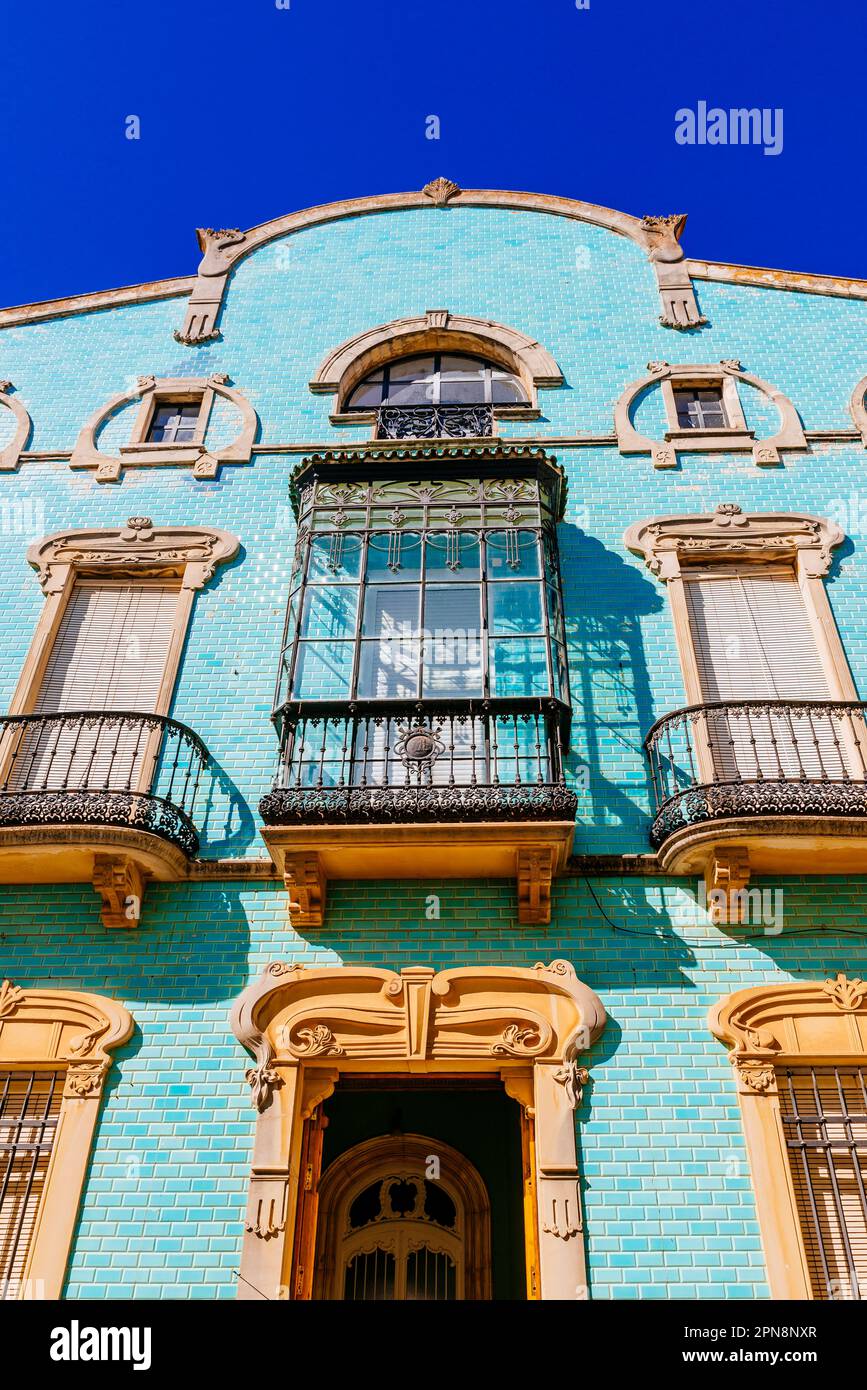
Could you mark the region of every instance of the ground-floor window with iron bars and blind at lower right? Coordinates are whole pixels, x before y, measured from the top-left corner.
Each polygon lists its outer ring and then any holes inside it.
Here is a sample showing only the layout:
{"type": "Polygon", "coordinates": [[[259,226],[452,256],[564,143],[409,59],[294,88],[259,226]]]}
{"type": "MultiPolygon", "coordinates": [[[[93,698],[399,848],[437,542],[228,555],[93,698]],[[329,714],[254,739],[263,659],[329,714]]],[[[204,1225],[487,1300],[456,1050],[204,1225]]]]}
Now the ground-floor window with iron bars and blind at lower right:
{"type": "Polygon", "coordinates": [[[867,1072],[778,1073],[789,1170],[814,1298],[867,1298],[867,1072]]]}

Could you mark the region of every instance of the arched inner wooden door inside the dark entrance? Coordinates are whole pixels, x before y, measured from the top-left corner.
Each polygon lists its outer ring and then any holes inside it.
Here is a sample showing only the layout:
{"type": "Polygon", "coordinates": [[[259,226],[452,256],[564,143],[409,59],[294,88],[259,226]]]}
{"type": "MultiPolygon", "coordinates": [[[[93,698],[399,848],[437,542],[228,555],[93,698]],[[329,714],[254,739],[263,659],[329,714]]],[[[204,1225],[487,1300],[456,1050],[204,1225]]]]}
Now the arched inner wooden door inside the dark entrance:
{"type": "Polygon", "coordinates": [[[449,1302],[489,1298],[489,1284],[488,1190],[457,1150],[388,1136],[357,1144],[327,1170],[315,1297],[449,1302]]]}

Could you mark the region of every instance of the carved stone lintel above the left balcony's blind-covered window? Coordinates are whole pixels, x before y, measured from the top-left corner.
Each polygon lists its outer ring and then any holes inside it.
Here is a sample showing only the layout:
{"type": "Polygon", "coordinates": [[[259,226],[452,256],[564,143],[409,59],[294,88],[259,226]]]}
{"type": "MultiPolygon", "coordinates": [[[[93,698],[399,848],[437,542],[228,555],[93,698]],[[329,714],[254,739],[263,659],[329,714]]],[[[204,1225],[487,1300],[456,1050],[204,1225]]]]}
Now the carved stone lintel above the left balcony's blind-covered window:
{"type": "Polygon", "coordinates": [[[150,517],[129,517],[117,531],[56,531],[35,541],[28,564],[39,573],[46,594],[61,591],[69,569],[82,575],[147,575],[182,580],[200,589],[217,567],[239,550],[238,537],[197,525],[154,525],[150,517]]]}

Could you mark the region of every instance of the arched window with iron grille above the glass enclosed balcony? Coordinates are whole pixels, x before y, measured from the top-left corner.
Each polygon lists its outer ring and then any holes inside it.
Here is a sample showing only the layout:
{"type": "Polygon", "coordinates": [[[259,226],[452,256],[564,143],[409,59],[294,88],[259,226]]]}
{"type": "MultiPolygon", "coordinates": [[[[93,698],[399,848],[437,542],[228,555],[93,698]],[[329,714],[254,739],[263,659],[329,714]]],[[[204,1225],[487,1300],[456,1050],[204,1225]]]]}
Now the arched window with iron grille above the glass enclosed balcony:
{"type": "Polygon", "coordinates": [[[377,367],[354,388],[346,410],[375,410],[381,439],[429,439],[489,435],[495,406],[521,404],[521,382],[496,363],[429,353],[377,367]]]}

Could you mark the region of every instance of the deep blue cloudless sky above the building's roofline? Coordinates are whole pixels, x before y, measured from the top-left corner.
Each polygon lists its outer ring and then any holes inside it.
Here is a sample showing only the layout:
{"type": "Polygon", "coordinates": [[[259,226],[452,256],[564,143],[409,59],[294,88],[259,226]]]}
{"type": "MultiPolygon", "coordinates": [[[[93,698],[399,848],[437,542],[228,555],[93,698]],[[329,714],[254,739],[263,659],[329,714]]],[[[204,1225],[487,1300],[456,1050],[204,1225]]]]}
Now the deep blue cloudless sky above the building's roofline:
{"type": "Polygon", "coordinates": [[[439,174],[686,211],[688,254],[867,277],[863,0],[278,3],[7,0],[1,304],[192,274],[197,225],[439,174]],[[678,145],[700,101],[781,108],[781,153],[678,145]]]}

